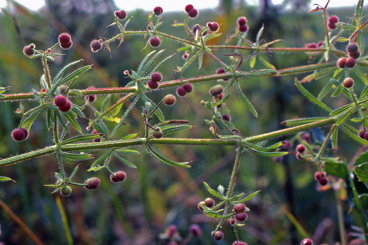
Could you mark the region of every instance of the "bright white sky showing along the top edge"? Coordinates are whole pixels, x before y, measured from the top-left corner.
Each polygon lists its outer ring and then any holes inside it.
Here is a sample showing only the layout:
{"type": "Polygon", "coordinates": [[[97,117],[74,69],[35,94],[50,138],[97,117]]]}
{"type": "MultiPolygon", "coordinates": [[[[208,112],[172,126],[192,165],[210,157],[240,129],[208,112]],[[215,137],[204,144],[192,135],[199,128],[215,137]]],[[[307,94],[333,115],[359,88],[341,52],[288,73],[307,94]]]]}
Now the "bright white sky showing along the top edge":
{"type": "MultiPolygon", "coordinates": [[[[26,6],[31,10],[38,10],[45,4],[44,0],[17,0],[18,3],[26,6]]],[[[183,4],[178,4],[178,0],[160,0],[160,1],[152,1],[152,0],[138,0],[138,1],[127,1],[127,0],[115,0],[116,5],[124,10],[134,10],[135,8],[143,8],[147,10],[151,10],[153,5],[161,6],[165,11],[174,11],[174,10],[183,10],[186,3],[192,3],[195,8],[215,8],[219,4],[218,0],[197,0],[197,1],[180,1],[183,4]],[[152,3],[154,3],[152,5],[152,3]]],[[[258,4],[258,0],[247,0],[247,3],[250,4],[258,4]]],[[[282,0],[272,0],[273,4],[280,4],[282,0]]],[[[346,1],[346,0],[330,0],[330,7],[342,7],[342,6],[355,6],[357,1],[346,1]]],[[[318,3],[321,6],[324,6],[327,3],[327,0],[313,0],[312,3],[318,3]]],[[[7,4],[6,0],[0,0],[0,7],[5,7],[7,4]]],[[[155,7],[153,6],[153,7],[155,7]]],[[[311,5],[311,9],[314,8],[311,5]]]]}

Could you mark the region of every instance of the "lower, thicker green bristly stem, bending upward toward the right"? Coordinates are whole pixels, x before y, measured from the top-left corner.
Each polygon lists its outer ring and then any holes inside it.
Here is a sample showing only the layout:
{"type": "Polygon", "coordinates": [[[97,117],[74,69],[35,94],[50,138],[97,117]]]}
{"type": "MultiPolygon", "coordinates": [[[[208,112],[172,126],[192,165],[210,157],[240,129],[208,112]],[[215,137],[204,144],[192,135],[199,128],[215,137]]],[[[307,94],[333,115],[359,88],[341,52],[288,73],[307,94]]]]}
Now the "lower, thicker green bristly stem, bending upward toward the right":
{"type": "MultiPolygon", "coordinates": [[[[269,140],[272,138],[277,138],[280,136],[284,136],[286,134],[297,133],[300,131],[305,131],[308,129],[312,129],[315,127],[322,127],[326,125],[330,125],[335,123],[337,118],[331,117],[328,119],[323,119],[317,122],[306,123],[301,126],[290,127],[287,129],[277,130],[270,133],[260,134],[257,136],[251,136],[244,138],[250,143],[269,140]]],[[[76,150],[84,150],[84,149],[100,149],[100,148],[116,148],[116,147],[127,147],[132,145],[144,145],[146,144],[145,138],[138,138],[133,140],[117,140],[117,141],[105,141],[98,143],[79,143],[79,144],[66,144],[60,146],[62,151],[76,151],[76,150]]],[[[192,138],[159,138],[159,139],[150,139],[150,144],[176,144],[176,145],[233,145],[239,146],[241,145],[240,140],[223,140],[223,139],[192,139],[192,138]]],[[[57,151],[57,146],[53,145],[50,147],[46,147],[43,149],[27,152],[24,154],[12,156],[10,158],[5,158],[0,160],[0,167],[7,166],[13,163],[22,162],[25,160],[29,160],[32,158],[36,158],[39,156],[47,155],[50,153],[54,153],[57,151]]]]}

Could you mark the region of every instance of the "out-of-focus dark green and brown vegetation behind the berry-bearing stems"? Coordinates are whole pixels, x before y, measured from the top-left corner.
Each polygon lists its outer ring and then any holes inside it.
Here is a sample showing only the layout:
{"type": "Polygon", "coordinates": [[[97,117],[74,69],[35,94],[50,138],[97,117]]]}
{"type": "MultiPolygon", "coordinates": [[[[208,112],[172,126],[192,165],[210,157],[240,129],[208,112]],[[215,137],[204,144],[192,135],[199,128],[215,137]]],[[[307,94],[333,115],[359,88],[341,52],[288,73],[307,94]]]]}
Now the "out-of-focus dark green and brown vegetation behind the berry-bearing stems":
{"type": "MultiPolygon", "coordinates": [[[[250,31],[248,39],[254,41],[256,33],[265,24],[262,36],[266,42],[283,39],[273,47],[304,47],[306,43],[318,42],[324,38],[322,12],[307,13],[312,9],[310,1],[285,1],[287,7],[273,6],[268,1],[260,1],[259,6],[249,6],[247,3],[231,3],[224,0],[219,8],[201,10],[198,18],[190,19],[189,25],[200,24],[205,26],[208,21],[220,23],[222,37],[210,40],[212,44],[223,44],[226,35],[234,33],[236,19],[239,16],[248,18],[250,31]]],[[[314,2],[313,2],[314,3],[314,2]]],[[[321,5],[324,5],[321,3],[321,5]]],[[[157,3],[152,4],[152,8],[157,3]]],[[[182,3],[183,9],[185,3],[182,3]]],[[[195,5],[195,4],[194,4],[195,5]]],[[[99,51],[92,53],[89,43],[92,39],[106,37],[117,33],[115,26],[107,27],[113,22],[113,12],[117,10],[112,1],[47,1],[46,7],[38,12],[9,2],[7,8],[0,14],[0,86],[11,86],[8,93],[21,93],[40,90],[39,79],[42,75],[42,65],[39,60],[31,60],[22,54],[22,48],[29,43],[35,43],[38,49],[47,49],[57,42],[61,32],[70,32],[74,46],[71,50],[60,51],[66,53],[50,62],[52,75],[68,62],[84,59],[86,64],[94,64],[91,71],[85,73],[75,88],[85,89],[89,86],[114,87],[124,86],[130,80],[125,78],[124,70],[137,69],[139,62],[152,49],[141,51],[145,46],[142,37],[126,36],[124,43],[116,48],[118,42],[110,44],[110,53],[99,51]],[[104,8],[101,8],[101,2],[104,8]]],[[[337,15],[345,20],[353,13],[353,9],[328,9],[330,15],[337,15]]],[[[134,15],[128,25],[129,30],[142,30],[148,12],[136,10],[128,12],[128,17],[134,15]]],[[[364,14],[363,14],[364,15],[364,14]]],[[[160,31],[171,35],[188,38],[183,28],[173,27],[175,20],[182,22],[185,13],[163,13],[164,24],[160,31]]],[[[236,44],[232,41],[229,44],[236,44]]],[[[346,44],[337,44],[341,50],[346,44]]],[[[176,51],[181,47],[178,43],[164,39],[159,49],[165,49],[163,57],[176,53],[170,62],[162,68],[164,80],[178,79],[173,69],[176,65],[183,65],[183,53],[176,51]]],[[[222,54],[231,53],[231,50],[215,51],[222,61],[229,64],[229,59],[222,54]]],[[[244,57],[250,52],[242,51],[244,57]]],[[[332,58],[331,59],[335,59],[332,58]]],[[[319,56],[309,60],[307,54],[273,53],[267,60],[277,69],[291,66],[306,65],[308,62],[317,62],[319,56]]],[[[185,69],[183,76],[192,77],[213,74],[219,65],[210,57],[204,57],[204,65],[198,71],[197,62],[185,69]]],[[[254,69],[266,68],[259,60],[254,69]]],[[[251,68],[249,62],[243,62],[240,67],[243,71],[251,68]]],[[[364,71],[365,72],[365,71],[364,71]]],[[[299,79],[308,74],[297,75],[299,79]]],[[[353,77],[354,78],[354,77],[353,77]]],[[[328,82],[322,78],[305,84],[313,94],[318,94],[328,82]]],[[[211,112],[203,107],[200,101],[208,98],[208,90],[217,81],[194,84],[194,90],[184,98],[178,98],[174,107],[163,107],[164,115],[168,119],[189,120],[195,127],[190,130],[175,133],[173,137],[213,138],[204,119],[210,119],[211,112]]],[[[225,84],[226,82],[223,82],[225,84]]],[[[294,117],[327,116],[326,112],[308,102],[296,89],[294,76],[275,78],[241,78],[241,87],[258,111],[258,119],[254,118],[245,105],[237,97],[234,90],[230,100],[226,102],[230,109],[232,122],[241,131],[243,136],[252,136],[269,131],[282,129],[280,122],[294,117]]],[[[357,82],[355,89],[360,91],[364,84],[357,82]]],[[[233,88],[235,89],[235,88],[233,88]]],[[[164,95],[175,93],[175,88],[153,91],[148,96],[155,102],[164,95]]],[[[117,101],[120,95],[114,95],[117,101]]],[[[329,97],[329,96],[327,96],[329,97]]],[[[83,98],[73,98],[74,102],[82,104],[83,98]]],[[[98,96],[94,106],[99,108],[103,96],[98,96]]],[[[326,104],[332,108],[346,104],[343,96],[325,98],[326,104]]],[[[26,108],[31,108],[32,101],[22,101],[26,108]]],[[[128,104],[125,104],[127,106],[128,104]]],[[[140,115],[143,104],[139,102],[127,119],[127,125],[116,136],[122,137],[129,133],[144,133],[144,122],[140,115]]],[[[0,157],[43,148],[52,144],[52,136],[47,133],[44,115],[41,114],[33,123],[28,140],[15,143],[11,140],[11,131],[18,126],[20,116],[14,111],[19,107],[19,101],[1,102],[0,116],[0,157]]],[[[87,108],[86,115],[93,111],[87,108]]],[[[82,129],[87,126],[88,120],[80,119],[82,129]]],[[[107,123],[110,129],[113,123],[107,123]]],[[[328,129],[311,130],[311,141],[320,143],[320,139],[328,129]]],[[[86,133],[87,131],[84,130],[86,133]]],[[[71,133],[76,133],[71,130],[71,133]]],[[[282,139],[290,139],[287,136],[282,139]]],[[[301,138],[301,134],[297,136],[301,138]]],[[[276,142],[272,140],[270,143],[276,142]]],[[[297,141],[294,142],[294,147],[297,141]]],[[[170,167],[152,159],[144,147],[135,147],[142,153],[139,156],[129,157],[138,169],[131,169],[123,163],[113,159],[110,162],[112,170],[127,172],[127,180],[113,184],[109,181],[109,174],[105,171],[91,173],[89,168],[93,160],[79,162],[79,172],[75,181],[83,182],[86,178],[96,176],[101,179],[97,190],[86,191],[81,187],[72,187],[72,194],[60,197],[61,204],[66,211],[68,226],[74,244],[167,244],[169,241],[160,240],[159,234],[170,224],[178,227],[182,237],[188,235],[190,224],[199,224],[202,229],[200,238],[191,239],[188,244],[230,244],[235,235],[232,227],[225,223],[222,230],[224,239],[215,241],[210,235],[216,227],[216,221],[209,219],[197,209],[197,203],[209,196],[202,181],[206,181],[212,188],[222,184],[227,186],[235,151],[233,147],[212,146],[154,146],[164,156],[176,161],[192,161],[191,169],[170,167]]],[[[346,135],[339,135],[337,155],[350,161],[360,147],[346,135]]],[[[99,151],[95,152],[99,155],[99,151]]],[[[68,173],[75,167],[75,163],[66,163],[68,173]]],[[[239,230],[240,238],[248,244],[299,244],[302,237],[287,218],[282,206],[296,217],[300,224],[314,239],[316,244],[333,244],[339,241],[337,228],[336,193],[333,189],[324,192],[317,190],[313,174],[317,167],[306,161],[297,161],[293,154],[287,155],[281,161],[262,158],[245,153],[241,159],[235,192],[252,193],[262,190],[247,205],[251,209],[245,226],[239,230]],[[280,202],[277,201],[281,200],[280,202]]],[[[0,199],[23,220],[26,225],[40,238],[44,244],[68,244],[67,231],[63,228],[60,210],[57,206],[59,193],[51,194],[52,190],[43,186],[54,183],[54,172],[58,171],[54,155],[32,159],[22,163],[2,167],[1,176],[8,176],[16,180],[0,184],[0,199]]],[[[345,226],[351,231],[352,225],[357,225],[355,210],[349,215],[348,203],[343,202],[345,226]]],[[[0,209],[0,225],[2,234],[0,242],[6,245],[34,244],[17,223],[0,209]]]]}

